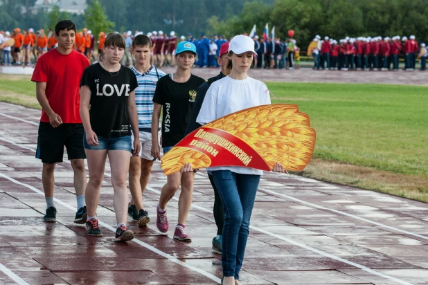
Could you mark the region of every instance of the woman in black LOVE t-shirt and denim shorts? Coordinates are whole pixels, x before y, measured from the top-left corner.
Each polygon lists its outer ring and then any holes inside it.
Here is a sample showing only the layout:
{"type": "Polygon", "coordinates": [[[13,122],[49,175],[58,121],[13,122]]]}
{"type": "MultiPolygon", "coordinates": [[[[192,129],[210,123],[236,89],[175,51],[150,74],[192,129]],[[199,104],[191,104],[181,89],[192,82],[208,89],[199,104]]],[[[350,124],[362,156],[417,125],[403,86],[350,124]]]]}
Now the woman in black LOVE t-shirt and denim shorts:
{"type": "Polygon", "coordinates": [[[126,187],[130,152],[140,151],[139,124],[135,92],[138,86],[134,72],[123,65],[125,50],[122,35],[110,33],[105,39],[104,60],[84,70],[80,81],[80,116],[84,127],[83,145],[89,168],[86,187],[87,233],[102,236],[96,218],[105,160],[109,156],[116,212],[116,241],[129,241],[134,232],[127,230],[128,194],[126,187]],[[131,145],[131,130],[135,136],[131,145]]]}

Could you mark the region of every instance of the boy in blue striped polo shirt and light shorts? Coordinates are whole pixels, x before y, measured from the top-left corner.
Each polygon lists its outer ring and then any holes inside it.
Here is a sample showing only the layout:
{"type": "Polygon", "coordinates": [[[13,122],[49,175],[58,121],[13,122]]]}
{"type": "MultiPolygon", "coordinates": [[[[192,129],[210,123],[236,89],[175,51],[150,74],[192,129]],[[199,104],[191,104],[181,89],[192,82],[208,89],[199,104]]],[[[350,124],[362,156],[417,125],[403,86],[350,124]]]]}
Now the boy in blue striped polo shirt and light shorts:
{"type": "MultiPolygon", "coordinates": [[[[152,150],[152,114],[153,95],[157,81],[165,75],[150,64],[152,54],[152,41],[145,35],[137,35],[132,40],[131,52],[136,59],[136,65],[132,66],[139,86],[135,89],[136,111],[139,116],[139,132],[141,151],[139,156],[131,158],[130,163],[130,191],[132,199],[128,209],[128,215],[134,221],[139,221],[139,226],[147,226],[150,218],[148,212],[143,209],[142,193],[148,184],[150,172],[154,160],[150,154],[152,150]]],[[[159,128],[159,132],[160,132],[159,128]]],[[[159,136],[160,137],[160,136],[159,136]]]]}

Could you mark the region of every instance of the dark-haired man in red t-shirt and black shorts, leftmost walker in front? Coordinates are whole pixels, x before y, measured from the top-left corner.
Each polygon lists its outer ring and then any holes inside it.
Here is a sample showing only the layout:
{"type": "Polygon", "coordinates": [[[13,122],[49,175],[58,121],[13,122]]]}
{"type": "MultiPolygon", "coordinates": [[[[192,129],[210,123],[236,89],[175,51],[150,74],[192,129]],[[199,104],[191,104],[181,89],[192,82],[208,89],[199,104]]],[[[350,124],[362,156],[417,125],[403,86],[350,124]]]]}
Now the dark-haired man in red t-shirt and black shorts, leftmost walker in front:
{"type": "Polygon", "coordinates": [[[36,158],[42,159],[42,182],[46,199],[46,222],[56,221],[53,203],[53,171],[62,162],[64,145],[74,172],[78,212],[74,222],[85,223],[87,210],[84,190],[83,125],[80,120],[80,77],[89,66],[87,57],[73,50],[76,27],[72,21],[61,20],[55,26],[58,47],[39,57],[31,81],[36,82],[37,100],[42,106],[36,158]]]}

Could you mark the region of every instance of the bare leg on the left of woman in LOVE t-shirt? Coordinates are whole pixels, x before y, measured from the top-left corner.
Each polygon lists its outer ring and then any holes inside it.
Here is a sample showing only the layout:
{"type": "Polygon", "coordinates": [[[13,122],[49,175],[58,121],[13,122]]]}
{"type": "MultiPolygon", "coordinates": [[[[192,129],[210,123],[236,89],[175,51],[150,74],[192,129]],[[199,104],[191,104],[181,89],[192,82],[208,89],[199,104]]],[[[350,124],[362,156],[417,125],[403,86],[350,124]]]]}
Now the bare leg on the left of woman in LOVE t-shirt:
{"type": "Polygon", "coordinates": [[[96,216],[96,208],[100,200],[100,188],[102,179],[104,178],[105,160],[107,159],[107,149],[90,150],[85,149],[88,169],[89,181],[85,190],[84,200],[88,217],[96,216]]]}

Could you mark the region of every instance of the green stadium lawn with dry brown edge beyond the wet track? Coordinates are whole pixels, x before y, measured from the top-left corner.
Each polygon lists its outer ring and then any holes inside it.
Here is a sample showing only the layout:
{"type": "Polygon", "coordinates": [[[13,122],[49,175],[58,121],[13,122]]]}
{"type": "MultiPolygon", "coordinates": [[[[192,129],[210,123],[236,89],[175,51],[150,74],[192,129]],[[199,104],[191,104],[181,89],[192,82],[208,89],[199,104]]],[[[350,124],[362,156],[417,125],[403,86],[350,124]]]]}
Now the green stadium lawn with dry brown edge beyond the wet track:
{"type": "MultiPolygon", "coordinates": [[[[303,176],[428,202],[427,87],[267,82],[316,130],[303,176]]],[[[0,75],[0,100],[40,109],[28,76],[0,75]]],[[[272,103],[278,102],[274,98],[272,103]]]]}

